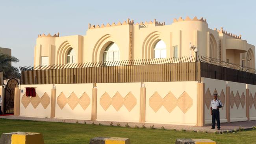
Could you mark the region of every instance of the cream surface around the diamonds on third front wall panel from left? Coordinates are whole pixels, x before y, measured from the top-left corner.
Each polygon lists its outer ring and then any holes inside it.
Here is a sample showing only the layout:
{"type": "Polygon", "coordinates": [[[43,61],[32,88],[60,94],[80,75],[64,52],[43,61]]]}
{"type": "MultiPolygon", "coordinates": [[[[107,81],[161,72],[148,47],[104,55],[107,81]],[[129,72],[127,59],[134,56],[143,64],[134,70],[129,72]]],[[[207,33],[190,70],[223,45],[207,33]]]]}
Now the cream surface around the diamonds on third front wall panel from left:
{"type": "MultiPolygon", "coordinates": [[[[106,121],[124,121],[124,122],[139,122],[139,107],[140,107],[140,88],[141,83],[97,83],[98,96],[97,96],[97,120],[106,121]],[[128,109],[123,105],[123,100],[114,100],[116,105],[121,104],[121,108],[117,111],[111,104],[106,111],[100,104],[100,99],[107,92],[109,97],[113,100],[113,97],[117,92],[120,93],[122,98],[125,98],[129,92],[132,92],[136,99],[135,106],[128,111],[128,109]]],[[[105,101],[109,102],[109,101],[105,101]]]]}

